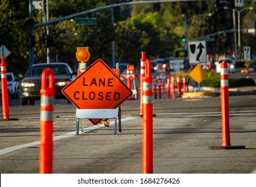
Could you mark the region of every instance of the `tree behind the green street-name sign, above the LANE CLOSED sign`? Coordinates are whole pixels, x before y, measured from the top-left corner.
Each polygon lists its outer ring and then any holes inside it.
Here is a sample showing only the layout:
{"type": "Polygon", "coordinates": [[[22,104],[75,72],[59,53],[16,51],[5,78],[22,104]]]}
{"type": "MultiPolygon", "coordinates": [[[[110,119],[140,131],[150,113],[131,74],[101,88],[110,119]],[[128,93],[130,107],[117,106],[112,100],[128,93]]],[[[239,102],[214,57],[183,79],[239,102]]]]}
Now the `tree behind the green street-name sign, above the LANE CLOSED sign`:
{"type": "MultiPolygon", "coordinates": [[[[102,7],[102,1],[51,1],[51,18],[63,17],[80,11],[102,7]]],[[[74,19],[50,25],[54,45],[51,47],[51,58],[59,61],[78,63],[76,47],[88,46],[91,56],[111,56],[110,46],[113,39],[110,9],[91,13],[84,17],[95,17],[96,25],[76,25],[74,19]],[[56,57],[57,56],[57,57],[56,57]]],[[[42,34],[41,34],[42,35],[42,34]]],[[[44,47],[45,48],[45,47],[44,47]]],[[[38,48],[38,50],[41,50],[38,48]]],[[[38,53],[38,59],[45,59],[46,53],[38,53]]],[[[93,59],[93,58],[91,58],[93,59]]]]}

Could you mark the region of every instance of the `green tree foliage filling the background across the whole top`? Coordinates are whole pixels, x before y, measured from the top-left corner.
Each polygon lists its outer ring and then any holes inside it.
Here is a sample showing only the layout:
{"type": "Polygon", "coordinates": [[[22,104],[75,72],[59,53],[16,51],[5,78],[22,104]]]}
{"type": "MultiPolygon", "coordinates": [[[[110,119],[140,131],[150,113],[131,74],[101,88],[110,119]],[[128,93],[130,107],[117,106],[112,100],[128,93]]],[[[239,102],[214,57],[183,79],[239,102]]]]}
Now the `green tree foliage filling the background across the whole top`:
{"type": "MultiPolygon", "coordinates": [[[[110,5],[117,1],[106,0],[51,0],[49,1],[50,20],[96,7],[110,5]]],[[[118,1],[122,2],[122,1],[118,1]]],[[[116,41],[116,61],[127,61],[138,65],[140,52],[146,51],[148,58],[171,57],[176,49],[183,47],[181,38],[186,22],[186,40],[209,33],[233,29],[232,11],[213,7],[214,1],[188,1],[154,3],[122,6],[114,8],[115,23],[112,25],[111,9],[90,13],[82,17],[96,17],[97,25],[76,25],[74,20],[51,24],[50,35],[53,37],[51,61],[67,61],[76,67],[76,47],[88,46],[91,60],[96,57],[112,56],[112,41],[116,41]],[[205,15],[213,13],[213,17],[205,15]],[[183,16],[182,16],[183,15],[183,16]]],[[[248,6],[249,4],[247,4],[248,6]]],[[[251,6],[255,7],[255,3],[251,6]]],[[[241,25],[254,23],[254,11],[241,14],[241,25]],[[246,21],[243,19],[245,18],[246,21]]],[[[29,31],[33,25],[42,23],[43,12],[33,9],[33,20],[29,19],[29,1],[2,0],[0,3],[0,45],[5,45],[11,55],[7,58],[7,70],[24,73],[29,65],[29,31]]],[[[244,26],[247,26],[244,25],[244,26]]],[[[45,27],[33,31],[35,35],[35,63],[46,61],[46,48],[43,44],[45,27]]],[[[255,36],[243,33],[243,45],[251,46],[255,51],[255,36]]],[[[231,54],[233,51],[233,33],[215,37],[213,43],[217,53],[231,54]]],[[[16,73],[17,74],[17,73],[16,73]]],[[[207,77],[213,86],[212,77],[207,77]]]]}

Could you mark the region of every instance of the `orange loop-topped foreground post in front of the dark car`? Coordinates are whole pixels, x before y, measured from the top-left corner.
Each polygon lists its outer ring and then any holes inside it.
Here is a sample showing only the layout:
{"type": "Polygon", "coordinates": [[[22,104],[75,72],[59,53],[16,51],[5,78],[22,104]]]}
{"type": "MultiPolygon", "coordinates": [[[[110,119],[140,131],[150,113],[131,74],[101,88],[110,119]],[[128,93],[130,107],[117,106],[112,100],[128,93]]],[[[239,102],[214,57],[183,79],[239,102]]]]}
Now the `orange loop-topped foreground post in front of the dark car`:
{"type": "Polygon", "coordinates": [[[51,174],[53,164],[53,102],[55,96],[54,75],[49,68],[43,70],[41,80],[41,106],[40,106],[40,150],[39,173],[51,174]],[[49,86],[47,86],[49,75],[49,86]]]}

